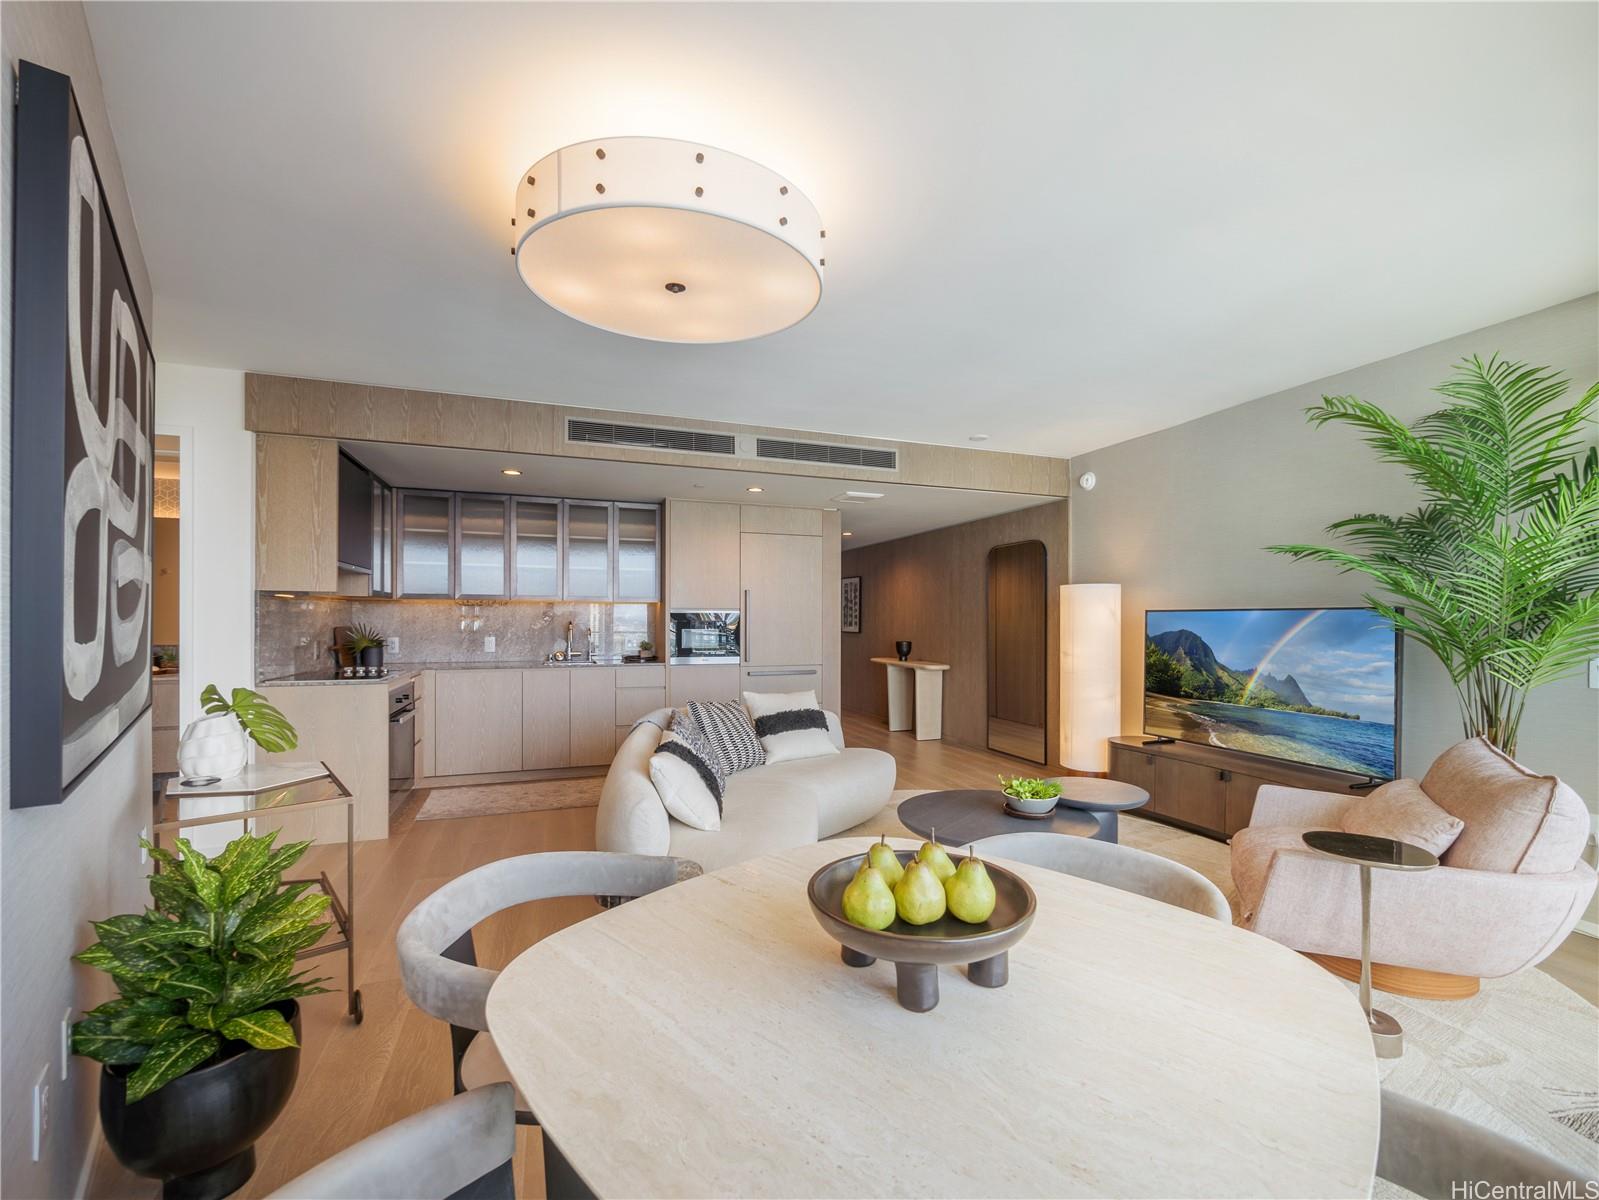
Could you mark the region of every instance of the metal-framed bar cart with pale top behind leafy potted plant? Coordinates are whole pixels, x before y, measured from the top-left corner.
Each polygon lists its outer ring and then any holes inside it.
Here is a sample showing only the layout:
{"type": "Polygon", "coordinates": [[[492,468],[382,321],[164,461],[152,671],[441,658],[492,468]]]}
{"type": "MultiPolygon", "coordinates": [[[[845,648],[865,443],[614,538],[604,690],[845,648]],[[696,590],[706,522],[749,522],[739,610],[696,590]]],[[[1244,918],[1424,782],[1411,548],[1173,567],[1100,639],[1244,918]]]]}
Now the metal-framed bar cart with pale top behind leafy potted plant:
{"type": "Polygon", "coordinates": [[[333,925],[337,938],[320,941],[307,950],[299,952],[299,958],[315,958],[323,954],[344,950],[345,994],[349,1003],[345,1011],[355,1024],[361,1022],[361,990],[355,986],[355,797],[350,789],[328,770],[328,763],[251,763],[232,779],[219,782],[184,784],[173,778],[166,781],[155,808],[155,824],[152,826],[152,842],[160,846],[161,835],[176,840],[182,829],[195,826],[214,826],[222,822],[243,824],[253,818],[283,818],[285,824],[296,816],[307,816],[312,822],[318,810],[344,806],[345,838],[344,838],[344,894],[341,896],[328,872],[318,872],[317,878],[286,880],[289,883],[312,883],[328,896],[328,910],[333,914],[333,925]]]}

